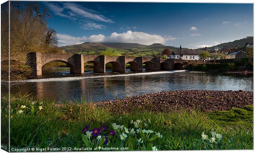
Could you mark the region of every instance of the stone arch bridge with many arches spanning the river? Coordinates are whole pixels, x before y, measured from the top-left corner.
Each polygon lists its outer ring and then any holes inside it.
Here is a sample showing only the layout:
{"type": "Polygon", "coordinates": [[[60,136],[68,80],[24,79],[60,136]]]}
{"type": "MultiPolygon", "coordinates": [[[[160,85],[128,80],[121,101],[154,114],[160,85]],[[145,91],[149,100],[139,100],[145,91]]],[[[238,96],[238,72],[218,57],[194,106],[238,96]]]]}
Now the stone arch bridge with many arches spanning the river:
{"type": "Polygon", "coordinates": [[[105,55],[84,55],[84,54],[53,54],[30,52],[28,54],[28,65],[32,68],[32,75],[42,75],[42,67],[51,61],[61,61],[70,67],[70,72],[74,74],[84,73],[84,63],[92,62],[93,71],[105,73],[105,65],[112,64],[112,71],[125,73],[126,64],[130,64],[130,71],[143,71],[142,64],[146,70],[174,70],[184,69],[187,64],[197,62],[181,59],[160,59],[151,57],[130,57],[130,56],[105,56],[105,55]]]}

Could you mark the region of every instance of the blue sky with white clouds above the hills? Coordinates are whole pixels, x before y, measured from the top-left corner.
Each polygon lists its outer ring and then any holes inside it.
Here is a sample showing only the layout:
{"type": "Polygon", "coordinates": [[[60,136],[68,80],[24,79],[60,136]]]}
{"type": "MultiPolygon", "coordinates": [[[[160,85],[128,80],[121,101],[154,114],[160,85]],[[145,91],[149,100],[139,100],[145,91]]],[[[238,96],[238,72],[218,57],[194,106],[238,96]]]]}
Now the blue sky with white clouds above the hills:
{"type": "Polygon", "coordinates": [[[253,36],[252,4],[40,2],[59,46],[83,42],[162,43],[198,48],[253,36]]]}

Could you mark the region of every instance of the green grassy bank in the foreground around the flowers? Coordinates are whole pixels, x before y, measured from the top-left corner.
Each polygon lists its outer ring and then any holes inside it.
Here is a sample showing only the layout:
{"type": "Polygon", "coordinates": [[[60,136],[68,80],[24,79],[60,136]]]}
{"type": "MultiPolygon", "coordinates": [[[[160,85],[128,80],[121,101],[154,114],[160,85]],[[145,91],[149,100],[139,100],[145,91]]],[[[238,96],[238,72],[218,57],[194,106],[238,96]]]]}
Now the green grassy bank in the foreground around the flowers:
{"type": "MultiPolygon", "coordinates": [[[[7,115],[7,109],[3,104],[6,103],[6,98],[1,97],[2,118],[7,115]]],[[[208,113],[197,110],[180,110],[172,113],[112,113],[104,108],[95,108],[92,103],[85,100],[80,103],[73,100],[57,104],[55,101],[35,100],[16,94],[11,97],[10,114],[11,148],[95,147],[96,138],[91,137],[92,144],[88,144],[85,135],[81,133],[85,125],[88,125],[89,129],[105,125],[108,128],[106,133],[109,133],[110,129],[114,130],[112,123],[116,123],[128,129],[134,128],[136,131],[138,128],[130,124],[130,121],[141,120],[141,130],[154,131],[148,138],[145,133],[140,132],[135,135],[127,134],[128,137],[121,140],[120,134],[124,131],[116,130],[114,136],[106,134],[109,144],[101,146],[123,147],[130,151],[152,150],[153,146],[158,150],[253,149],[253,106],[208,113]],[[27,108],[21,108],[22,105],[27,108]],[[40,110],[40,106],[43,109],[40,110]],[[19,113],[20,110],[24,112],[19,113]],[[211,137],[212,131],[223,136],[217,144],[201,139],[202,132],[211,137]],[[163,137],[156,137],[155,132],[159,132],[163,137]],[[138,144],[140,138],[144,142],[138,144]]],[[[4,120],[6,119],[2,120],[2,127],[7,124],[4,120]]]]}

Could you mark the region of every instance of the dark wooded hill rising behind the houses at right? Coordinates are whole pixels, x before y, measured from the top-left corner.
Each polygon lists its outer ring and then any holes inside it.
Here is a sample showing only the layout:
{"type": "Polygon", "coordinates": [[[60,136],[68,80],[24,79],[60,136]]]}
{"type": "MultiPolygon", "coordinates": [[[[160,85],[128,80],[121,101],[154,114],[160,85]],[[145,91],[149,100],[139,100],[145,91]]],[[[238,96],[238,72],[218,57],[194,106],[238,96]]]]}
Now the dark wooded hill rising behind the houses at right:
{"type": "MultiPolygon", "coordinates": [[[[208,49],[212,50],[212,49],[221,49],[223,47],[245,46],[246,43],[249,43],[250,45],[253,44],[254,37],[247,37],[239,40],[234,40],[232,42],[225,42],[216,46],[208,47],[208,49]]],[[[199,49],[203,49],[203,48],[199,48],[199,49]]]]}

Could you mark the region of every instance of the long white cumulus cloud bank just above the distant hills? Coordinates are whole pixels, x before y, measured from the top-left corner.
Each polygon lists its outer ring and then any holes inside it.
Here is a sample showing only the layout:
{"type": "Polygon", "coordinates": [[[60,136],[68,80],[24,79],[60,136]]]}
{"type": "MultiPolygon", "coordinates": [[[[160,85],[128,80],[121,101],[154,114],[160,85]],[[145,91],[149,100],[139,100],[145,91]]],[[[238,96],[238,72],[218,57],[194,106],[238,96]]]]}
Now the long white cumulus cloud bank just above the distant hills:
{"type": "Polygon", "coordinates": [[[137,31],[126,31],[126,33],[111,33],[110,36],[106,37],[102,34],[91,35],[90,37],[73,37],[66,34],[57,34],[59,46],[76,45],[83,42],[130,42],[139,43],[142,45],[152,45],[154,43],[165,43],[167,40],[175,40],[175,37],[166,36],[165,38],[161,35],[152,35],[144,32],[137,31]]]}

